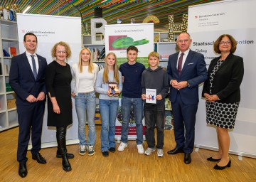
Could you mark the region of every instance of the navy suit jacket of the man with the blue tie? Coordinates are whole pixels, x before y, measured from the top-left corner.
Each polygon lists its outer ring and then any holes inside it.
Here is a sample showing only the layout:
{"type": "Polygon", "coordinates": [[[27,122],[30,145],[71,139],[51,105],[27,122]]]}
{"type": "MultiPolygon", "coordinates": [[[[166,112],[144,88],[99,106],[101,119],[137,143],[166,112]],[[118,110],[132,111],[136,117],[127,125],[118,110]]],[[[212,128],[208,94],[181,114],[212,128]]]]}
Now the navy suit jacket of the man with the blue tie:
{"type": "Polygon", "coordinates": [[[38,97],[40,92],[46,93],[45,75],[47,62],[46,58],[38,57],[38,75],[36,80],[33,71],[28,63],[26,53],[11,58],[11,69],[9,75],[9,85],[16,92],[16,105],[30,105],[26,98],[29,95],[38,97]]]}

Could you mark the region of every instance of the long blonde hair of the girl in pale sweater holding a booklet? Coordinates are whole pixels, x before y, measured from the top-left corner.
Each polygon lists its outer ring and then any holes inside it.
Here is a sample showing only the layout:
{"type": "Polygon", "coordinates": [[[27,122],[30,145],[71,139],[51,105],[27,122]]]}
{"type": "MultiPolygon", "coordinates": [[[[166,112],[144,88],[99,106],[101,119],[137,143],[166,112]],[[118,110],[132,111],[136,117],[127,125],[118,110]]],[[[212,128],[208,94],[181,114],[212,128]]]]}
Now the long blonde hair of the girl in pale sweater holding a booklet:
{"type": "Polygon", "coordinates": [[[115,55],[114,53],[110,52],[107,54],[107,56],[105,57],[105,66],[104,66],[104,71],[103,71],[103,82],[104,83],[108,83],[110,82],[109,77],[108,77],[108,67],[107,67],[107,57],[109,57],[110,55],[114,55],[114,80],[117,82],[117,84],[119,84],[119,72],[118,72],[118,66],[117,66],[117,55],[115,55]]]}

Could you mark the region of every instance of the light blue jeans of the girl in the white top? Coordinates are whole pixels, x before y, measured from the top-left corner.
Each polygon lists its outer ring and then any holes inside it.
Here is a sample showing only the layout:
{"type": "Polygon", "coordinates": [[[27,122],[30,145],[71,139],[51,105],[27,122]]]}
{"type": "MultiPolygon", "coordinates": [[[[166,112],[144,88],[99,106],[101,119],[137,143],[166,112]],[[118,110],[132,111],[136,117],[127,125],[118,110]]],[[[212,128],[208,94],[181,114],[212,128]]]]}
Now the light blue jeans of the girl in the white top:
{"type": "Polygon", "coordinates": [[[78,139],[80,145],[95,145],[95,92],[78,93],[75,96],[75,109],[78,115],[78,139]],[[88,143],[85,138],[85,111],[87,112],[87,122],[89,126],[88,143]]]}

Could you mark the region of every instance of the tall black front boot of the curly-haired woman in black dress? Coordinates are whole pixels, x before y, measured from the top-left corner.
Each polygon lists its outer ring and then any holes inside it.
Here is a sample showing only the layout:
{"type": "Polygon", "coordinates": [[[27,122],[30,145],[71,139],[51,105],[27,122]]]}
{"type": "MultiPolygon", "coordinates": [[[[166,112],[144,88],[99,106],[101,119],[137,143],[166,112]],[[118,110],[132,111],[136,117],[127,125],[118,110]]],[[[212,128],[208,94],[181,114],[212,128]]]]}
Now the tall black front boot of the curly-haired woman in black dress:
{"type": "Polygon", "coordinates": [[[60,152],[60,155],[62,156],[62,165],[63,165],[63,170],[64,171],[71,171],[71,165],[68,161],[68,156],[67,156],[67,149],[66,149],[66,144],[65,144],[65,135],[66,135],[67,129],[66,127],[57,127],[57,143],[58,143],[58,151],[60,152]]]}

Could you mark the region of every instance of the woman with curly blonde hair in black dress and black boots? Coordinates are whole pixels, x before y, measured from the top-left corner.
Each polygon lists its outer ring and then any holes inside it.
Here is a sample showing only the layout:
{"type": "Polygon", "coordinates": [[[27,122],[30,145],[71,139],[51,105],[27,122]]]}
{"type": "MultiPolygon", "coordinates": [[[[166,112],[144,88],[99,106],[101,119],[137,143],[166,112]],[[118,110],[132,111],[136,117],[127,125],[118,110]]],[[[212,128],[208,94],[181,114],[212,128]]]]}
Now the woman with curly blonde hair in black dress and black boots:
{"type": "Polygon", "coordinates": [[[55,58],[46,68],[46,89],[48,91],[48,126],[56,127],[58,143],[57,158],[63,159],[63,170],[71,171],[68,159],[73,159],[73,154],[68,154],[65,136],[68,125],[72,120],[71,101],[71,70],[66,63],[70,58],[71,50],[68,43],[59,42],[53,46],[52,57],[55,58]]]}

